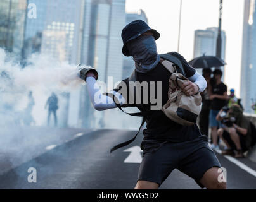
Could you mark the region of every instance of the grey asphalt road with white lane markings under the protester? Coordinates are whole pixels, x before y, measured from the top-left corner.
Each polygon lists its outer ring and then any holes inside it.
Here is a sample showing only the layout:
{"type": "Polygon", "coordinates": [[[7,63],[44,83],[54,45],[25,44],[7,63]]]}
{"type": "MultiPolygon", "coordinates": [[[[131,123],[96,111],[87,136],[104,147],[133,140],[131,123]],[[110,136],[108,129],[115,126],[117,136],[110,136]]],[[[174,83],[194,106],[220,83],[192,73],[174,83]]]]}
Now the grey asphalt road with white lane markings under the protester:
{"type": "MultiPolygon", "coordinates": [[[[22,141],[21,138],[20,146],[15,150],[20,151],[11,153],[15,156],[12,160],[10,160],[10,152],[6,157],[2,151],[0,189],[133,189],[141,158],[138,146],[143,135],[139,134],[131,145],[113,151],[112,154],[110,148],[128,140],[134,132],[108,129],[99,131],[44,129],[45,137],[36,141],[35,146],[29,146],[30,138],[27,141],[22,141]],[[47,131],[49,134],[46,134],[47,131]],[[131,152],[132,148],[133,152],[131,152]],[[29,151],[30,155],[25,151],[29,151]],[[3,158],[9,162],[20,158],[23,160],[19,165],[10,163],[6,167],[3,158]],[[37,182],[28,182],[30,167],[36,169],[37,182]]],[[[30,133],[27,133],[27,136],[30,136],[30,133]]],[[[33,141],[32,143],[34,144],[33,141]]],[[[256,189],[256,175],[253,175],[256,163],[247,158],[232,162],[232,159],[218,153],[217,157],[222,167],[227,170],[227,188],[256,189]]],[[[187,175],[174,170],[160,189],[200,189],[200,187],[187,175]]]]}

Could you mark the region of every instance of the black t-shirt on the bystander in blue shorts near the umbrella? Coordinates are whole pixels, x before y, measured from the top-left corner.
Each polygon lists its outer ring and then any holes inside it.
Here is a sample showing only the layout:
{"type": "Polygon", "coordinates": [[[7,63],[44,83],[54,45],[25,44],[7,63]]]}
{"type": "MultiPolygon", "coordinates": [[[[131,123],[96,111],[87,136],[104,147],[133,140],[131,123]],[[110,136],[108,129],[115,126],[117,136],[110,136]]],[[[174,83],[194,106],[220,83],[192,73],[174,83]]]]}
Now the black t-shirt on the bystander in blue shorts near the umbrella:
{"type": "MultiPolygon", "coordinates": [[[[227,92],[227,86],[224,83],[221,82],[219,85],[212,86],[212,94],[224,95],[224,92],[227,92]]],[[[211,109],[220,110],[225,105],[226,105],[226,100],[214,98],[212,100],[211,109]]]]}

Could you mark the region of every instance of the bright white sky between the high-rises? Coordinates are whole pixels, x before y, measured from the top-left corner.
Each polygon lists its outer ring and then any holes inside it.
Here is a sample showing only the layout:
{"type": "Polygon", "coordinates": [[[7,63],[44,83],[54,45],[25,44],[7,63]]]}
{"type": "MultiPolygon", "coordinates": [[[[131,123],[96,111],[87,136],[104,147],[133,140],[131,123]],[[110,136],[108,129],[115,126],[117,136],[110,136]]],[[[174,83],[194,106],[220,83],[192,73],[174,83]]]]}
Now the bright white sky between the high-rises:
{"type": "MultiPolygon", "coordinates": [[[[224,83],[240,97],[243,0],[223,0],[222,30],[226,32],[224,83]]],[[[148,24],[160,33],[158,53],[177,51],[180,0],[126,0],[127,13],[145,11],[148,24]]],[[[219,25],[219,0],[182,0],[179,53],[193,59],[195,30],[219,25]]]]}

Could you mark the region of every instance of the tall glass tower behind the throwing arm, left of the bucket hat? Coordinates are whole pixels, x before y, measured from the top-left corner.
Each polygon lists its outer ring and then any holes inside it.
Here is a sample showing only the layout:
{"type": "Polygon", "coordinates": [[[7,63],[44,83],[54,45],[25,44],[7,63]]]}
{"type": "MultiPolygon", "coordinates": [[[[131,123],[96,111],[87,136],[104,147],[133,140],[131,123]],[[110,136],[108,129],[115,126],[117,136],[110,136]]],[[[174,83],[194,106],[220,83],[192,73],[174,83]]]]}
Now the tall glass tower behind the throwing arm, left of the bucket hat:
{"type": "MultiPolygon", "coordinates": [[[[84,20],[84,27],[88,29],[84,29],[87,40],[82,45],[81,61],[97,69],[98,81],[107,82],[108,76],[113,76],[115,83],[122,80],[121,33],[125,26],[125,0],[93,0],[90,12],[91,20],[84,20]]],[[[107,110],[95,111],[85,87],[81,91],[80,106],[80,126],[88,128],[110,126],[112,119],[107,117],[119,113],[118,110],[112,110],[111,114],[107,110]]]]}

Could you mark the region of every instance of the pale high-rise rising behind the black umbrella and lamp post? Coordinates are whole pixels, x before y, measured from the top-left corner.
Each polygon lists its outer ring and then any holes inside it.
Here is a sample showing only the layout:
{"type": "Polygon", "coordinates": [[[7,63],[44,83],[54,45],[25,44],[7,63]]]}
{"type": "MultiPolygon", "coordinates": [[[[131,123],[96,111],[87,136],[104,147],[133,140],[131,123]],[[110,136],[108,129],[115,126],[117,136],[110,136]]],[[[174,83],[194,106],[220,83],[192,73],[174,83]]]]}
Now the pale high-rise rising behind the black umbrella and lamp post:
{"type": "MultiPolygon", "coordinates": [[[[216,56],[216,45],[218,37],[218,28],[210,27],[206,30],[196,30],[194,39],[194,54],[193,57],[200,57],[205,54],[206,56],[216,56]]],[[[221,59],[225,61],[226,52],[226,33],[221,31],[221,59]]],[[[221,68],[224,72],[224,68],[221,68]]],[[[202,73],[202,69],[197,69],[198,72],[202,73]]],[[[224,75],[222,76],[224,78],[224,75]]]]}

